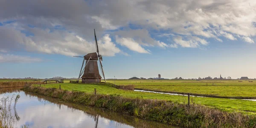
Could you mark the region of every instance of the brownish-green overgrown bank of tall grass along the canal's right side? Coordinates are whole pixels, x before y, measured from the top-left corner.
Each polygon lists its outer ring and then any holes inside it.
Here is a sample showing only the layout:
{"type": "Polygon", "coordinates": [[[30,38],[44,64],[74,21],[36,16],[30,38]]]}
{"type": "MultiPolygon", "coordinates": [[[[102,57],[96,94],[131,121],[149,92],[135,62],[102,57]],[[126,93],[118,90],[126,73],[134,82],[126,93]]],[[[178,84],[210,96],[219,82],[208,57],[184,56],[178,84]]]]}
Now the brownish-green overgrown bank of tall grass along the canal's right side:
{"type": "Polygon", "coordinates": [[[25,86],[26,92],[62,99],[82,105],[105,108],[143,119],[189,128],[204,127],[255,127],[256,118],[242,113],[223,112],[202,105],[180,104],[157,99],[127,98],[116,95],[94,95],[78,91],[25,86]]]}

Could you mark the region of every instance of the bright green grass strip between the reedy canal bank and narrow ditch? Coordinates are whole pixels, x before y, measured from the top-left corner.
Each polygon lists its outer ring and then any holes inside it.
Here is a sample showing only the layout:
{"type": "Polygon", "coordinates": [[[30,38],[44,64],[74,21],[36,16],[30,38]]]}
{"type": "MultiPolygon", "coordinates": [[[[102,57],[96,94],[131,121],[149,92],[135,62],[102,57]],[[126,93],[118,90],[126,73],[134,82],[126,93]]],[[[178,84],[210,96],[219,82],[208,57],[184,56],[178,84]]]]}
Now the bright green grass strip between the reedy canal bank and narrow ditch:
{"type": "MultiPolygon", "coordinates": [[[[143,98],[143,99],[163,99],[171,100],[174,102],[187,102],[187,96],[173,96],[168,94],[157,94],[157,93],[144,93],[135,92],[132,90],[119,90],[107,85],[96,85],[96,84],[41,84],[41,87],[55,87],[64,90],[74,90],[87,93],[94,93],[94,88],[96,88],[97,93],[107,94],[107,95],[120,95],[129,98],[143,98]]],[[[39,86],[39,85],[35,85],[39,86]]],[[[191,97],[192,102],[195,104],[206,105],[213,108],[218,108],[224,111],[243,111],[256,113],[256,102],[247,101],[241,99],[222,99],[222,98],[204,98],[204,97],[191,97]]]]}

